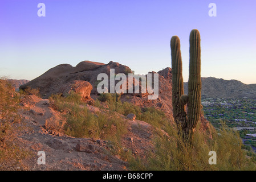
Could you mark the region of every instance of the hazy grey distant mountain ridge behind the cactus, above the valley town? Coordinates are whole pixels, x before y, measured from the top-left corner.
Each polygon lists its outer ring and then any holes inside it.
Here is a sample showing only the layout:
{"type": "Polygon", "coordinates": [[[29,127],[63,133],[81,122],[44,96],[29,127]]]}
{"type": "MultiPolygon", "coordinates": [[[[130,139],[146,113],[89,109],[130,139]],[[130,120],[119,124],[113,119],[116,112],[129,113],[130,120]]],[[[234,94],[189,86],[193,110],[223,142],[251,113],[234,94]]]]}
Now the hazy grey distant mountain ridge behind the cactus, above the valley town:
{"type": "MultiPolygon", "coordinates": [[[[238,80],[222,78],[201,78],[202,98],[254,98],[256,99],[256,84],[243,84],[238,80]]],[[[184,82],[184,92],[188,93],[188,82],[184,82]]]]}

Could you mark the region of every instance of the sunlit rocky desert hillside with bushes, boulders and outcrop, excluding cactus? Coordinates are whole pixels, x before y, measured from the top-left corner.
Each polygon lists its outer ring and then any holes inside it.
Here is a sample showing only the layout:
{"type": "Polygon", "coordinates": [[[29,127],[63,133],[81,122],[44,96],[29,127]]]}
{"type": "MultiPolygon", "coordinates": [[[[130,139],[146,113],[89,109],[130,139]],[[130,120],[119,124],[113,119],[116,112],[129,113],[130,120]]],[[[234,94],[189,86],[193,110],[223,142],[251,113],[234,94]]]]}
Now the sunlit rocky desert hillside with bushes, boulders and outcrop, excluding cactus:
{"type": "Polygon", "coordinates": [[[129,67],[112,61],[108,64],[83,61],[76,67],[61,64],[51,68],[21,85],[23,92],[19,93],[2,80],[0,89],[4,97],[0,108],[11,112],[1,113],[0,121],[11,127],[1,126],[0,149],[4,149],[0,154],[1,169],[241,168],[234,165],[236,161],[230,162],[231,159],[222,156],[219,156],[220,166],[210,166],[208,152],[213,147],[218,154],[231,152],[232,159],[247,163],[241,143],[235,146],[233,142],[226,143],[227,139],[238,141],[238,138],[227,130],[217,135],[203,114],[196,128],[195,145],[183,141],[173,121],[171,68],[157,72],[159,97],[156,100],[148,100],[148,92],[99,94],[96,77],[99,73],[109,75],[112,68],[115,73],[132,73],[129,67]],[[8,107],[5,102],[10,102],[8,107]],[[39,151],[46,154],[45,165],[38,164],[39,151]],[[192,153],[188,155],[188,151],[192,153]],[[200,163],[195,165],[195,161],[200,163]]]}

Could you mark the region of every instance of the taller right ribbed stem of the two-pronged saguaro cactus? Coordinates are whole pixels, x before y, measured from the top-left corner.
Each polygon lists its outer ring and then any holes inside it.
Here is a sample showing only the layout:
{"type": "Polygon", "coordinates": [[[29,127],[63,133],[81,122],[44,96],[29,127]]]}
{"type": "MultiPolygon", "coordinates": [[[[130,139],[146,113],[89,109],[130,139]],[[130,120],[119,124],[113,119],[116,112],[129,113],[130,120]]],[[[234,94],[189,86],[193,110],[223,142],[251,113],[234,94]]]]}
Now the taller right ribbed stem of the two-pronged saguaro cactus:
{"type": "Polygon", "coordinates": [[[189,38],[188,125],[187,133],[194,133],[201,112],[201,47],[200,33],[192,30],[189,38]]]}

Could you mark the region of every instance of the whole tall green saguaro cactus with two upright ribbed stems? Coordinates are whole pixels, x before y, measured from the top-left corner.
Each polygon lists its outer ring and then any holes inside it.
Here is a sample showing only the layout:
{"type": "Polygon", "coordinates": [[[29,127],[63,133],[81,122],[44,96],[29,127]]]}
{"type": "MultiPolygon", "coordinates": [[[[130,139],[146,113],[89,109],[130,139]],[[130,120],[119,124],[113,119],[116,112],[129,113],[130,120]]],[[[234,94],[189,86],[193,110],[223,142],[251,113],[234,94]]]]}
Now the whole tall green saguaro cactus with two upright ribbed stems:
{"type": "Polygon", "coordinates": [[[173,36],[170,40],[173,74],[173,117],[182,130],[192,138],[194,129],[200,119],[201,111],[201,48],[198,30],[194,29],[190,32],[189,43],[189,82],[188,96],[186,96],[183,88],[180,39],[177,36],[173,36]],[[184,109],[186,104],[188,104],[187,114],[184,109]]]}

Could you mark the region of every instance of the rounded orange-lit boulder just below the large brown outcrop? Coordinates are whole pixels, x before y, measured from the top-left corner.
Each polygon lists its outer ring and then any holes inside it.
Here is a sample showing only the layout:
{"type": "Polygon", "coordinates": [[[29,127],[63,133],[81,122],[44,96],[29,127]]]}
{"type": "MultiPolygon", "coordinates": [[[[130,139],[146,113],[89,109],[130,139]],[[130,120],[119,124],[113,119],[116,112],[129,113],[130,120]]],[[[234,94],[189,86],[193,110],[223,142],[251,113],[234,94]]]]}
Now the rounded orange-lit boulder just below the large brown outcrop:
{"type": "Polygon", "coordinates": [[[70,81],[67,84],[63,85],[60,88],[60,92],[65,96],[66,94],[70,94],[71,92],[78,93],[82,100],[86,100],[90,97],[90,93],[92,90],[92,85],[88,81],[83,80],[74,80],[70,81]]]}

